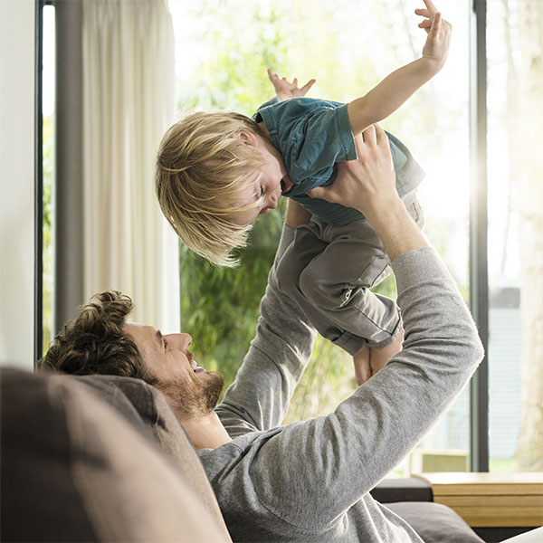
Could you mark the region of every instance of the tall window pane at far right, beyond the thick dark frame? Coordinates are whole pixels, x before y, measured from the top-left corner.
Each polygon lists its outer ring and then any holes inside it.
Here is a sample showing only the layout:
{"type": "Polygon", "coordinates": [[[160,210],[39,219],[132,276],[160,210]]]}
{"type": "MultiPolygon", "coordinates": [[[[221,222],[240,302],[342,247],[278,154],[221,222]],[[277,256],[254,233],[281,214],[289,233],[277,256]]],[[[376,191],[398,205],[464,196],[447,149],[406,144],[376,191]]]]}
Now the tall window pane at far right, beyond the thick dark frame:
{"type": "Polygon", "coordinates": [[[488,3],[490,469],[543,470],[543,3],[488,3]]]}

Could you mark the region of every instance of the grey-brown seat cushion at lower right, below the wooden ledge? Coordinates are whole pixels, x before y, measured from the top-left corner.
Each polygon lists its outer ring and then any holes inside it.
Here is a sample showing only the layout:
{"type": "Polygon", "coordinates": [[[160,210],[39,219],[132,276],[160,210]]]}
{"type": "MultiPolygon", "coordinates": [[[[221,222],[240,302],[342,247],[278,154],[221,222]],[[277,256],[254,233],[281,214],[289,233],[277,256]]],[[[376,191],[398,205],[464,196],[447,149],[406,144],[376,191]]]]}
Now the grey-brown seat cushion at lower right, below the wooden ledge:
{"type": "Polygon", "coordinates": [[[386,507],[404,519],[424,543],[484,543],[460,515],[442,503],[402,501],[386,507]]]}

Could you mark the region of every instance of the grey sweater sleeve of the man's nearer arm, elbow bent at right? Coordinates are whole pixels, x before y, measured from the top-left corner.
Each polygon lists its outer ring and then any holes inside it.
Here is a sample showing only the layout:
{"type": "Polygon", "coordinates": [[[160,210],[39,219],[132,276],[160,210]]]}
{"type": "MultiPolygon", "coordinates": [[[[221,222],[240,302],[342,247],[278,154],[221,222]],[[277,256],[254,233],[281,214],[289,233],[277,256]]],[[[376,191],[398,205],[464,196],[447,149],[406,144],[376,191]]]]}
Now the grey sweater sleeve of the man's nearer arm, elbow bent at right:
{"type": "Polygon", "coordinates": [[[437,253],[407,252],[393,269],[404,349],[334,413],[271,434],[251,464],[258,500],[296,526],[340,518],[414,448],[481,361],[472,317],[437,253]]]}

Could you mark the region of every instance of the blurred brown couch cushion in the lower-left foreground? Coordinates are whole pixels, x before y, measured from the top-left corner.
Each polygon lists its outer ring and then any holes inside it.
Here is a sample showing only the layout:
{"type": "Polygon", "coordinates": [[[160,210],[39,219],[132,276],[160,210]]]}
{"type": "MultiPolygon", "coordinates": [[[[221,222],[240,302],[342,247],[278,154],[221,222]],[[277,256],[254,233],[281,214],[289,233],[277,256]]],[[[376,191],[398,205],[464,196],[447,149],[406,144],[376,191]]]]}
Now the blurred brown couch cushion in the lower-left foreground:
{"type": "MultiPolygon", "coordinates": [[[[1,368],[0,385],[3,541],[231,541],[141,427],[81,380],[1,368]]],[[[186,471],[201,468],[186,449],[186,471]]]]}

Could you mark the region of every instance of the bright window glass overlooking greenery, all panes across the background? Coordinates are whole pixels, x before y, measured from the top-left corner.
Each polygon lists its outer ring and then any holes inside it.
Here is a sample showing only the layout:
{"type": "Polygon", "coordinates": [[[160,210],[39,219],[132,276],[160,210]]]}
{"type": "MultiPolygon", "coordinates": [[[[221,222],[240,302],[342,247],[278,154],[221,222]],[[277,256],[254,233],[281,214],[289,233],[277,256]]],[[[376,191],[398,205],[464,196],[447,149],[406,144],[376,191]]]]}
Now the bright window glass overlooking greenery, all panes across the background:
{"type": "MultiPolygon", "coordinates": [[[[318,83],[311,96],[348,101],[413,60],[425,34],[418,2],[169,0],[176,31],[179,110],[251,115],[272,94],[266,68],[318,83]]],[[[427,234],[469,302],[470,43],[472,0],[443,3],[453,24],[444,70],[383,126],[411,148],[426,177],[427,234]]],[[[482,3],[479,3],[481,5],[482,3]]],[[[489,0],[488,346],[491,471],[543,471],[543,3],[489,0]]],[[[54,8],[43,9],[43,346],[52,329],[54,8]]],[[[481,83],[480,83],[481,84],[481,83]]],[[[486,197],[488,196],[488,197],[486,197]]],[[[284,203],[283,203],[284,205],[284,203]]],[[[182,250],[182,327],[197,359],[230,383],[254,334],[284,207],[259,219],[236,270],[182,250]]],[[[392,279],[379,291],[395,296],[392,279]]],[[[332,411],[355,389],[350,357],[319,339],[287,422],[332,411]]],[[[483,406],[484,409],[484,406],[483,406]]],[[[466,388],[395,474],[470,466],[466,388]]],[[[486,435],[481,436],[483,441],[486,435]]]]}

